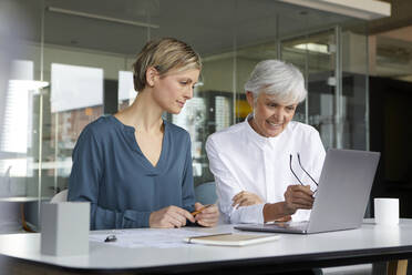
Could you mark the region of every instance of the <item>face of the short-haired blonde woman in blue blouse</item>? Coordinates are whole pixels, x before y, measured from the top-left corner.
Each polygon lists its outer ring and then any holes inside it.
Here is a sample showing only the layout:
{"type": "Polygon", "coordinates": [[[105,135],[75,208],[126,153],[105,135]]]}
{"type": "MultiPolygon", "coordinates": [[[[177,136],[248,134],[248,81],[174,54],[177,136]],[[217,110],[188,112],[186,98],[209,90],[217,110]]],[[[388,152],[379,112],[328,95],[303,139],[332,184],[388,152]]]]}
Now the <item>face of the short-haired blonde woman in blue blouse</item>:
{"type": "Polygon", "coordinates": [[[178,114],[193,98],[193,90],[198,81],[200,71],[197,69],[176,71],[165,75],[157,75],[154,80],[153,96],[157,104],[166,112],[178,114]]]}

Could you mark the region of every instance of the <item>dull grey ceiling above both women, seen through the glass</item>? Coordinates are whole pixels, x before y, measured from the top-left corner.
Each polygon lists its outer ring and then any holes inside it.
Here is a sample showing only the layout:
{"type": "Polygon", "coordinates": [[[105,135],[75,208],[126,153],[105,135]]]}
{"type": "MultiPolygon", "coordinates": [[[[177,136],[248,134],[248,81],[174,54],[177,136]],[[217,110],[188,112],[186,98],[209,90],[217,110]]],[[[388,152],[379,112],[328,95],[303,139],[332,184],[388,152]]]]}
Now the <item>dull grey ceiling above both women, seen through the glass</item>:
{"type": "Polygon", "coordinates": [[[311,32],[360,20],[274,0],[19,0],[31,19],[25,39],[120,54],[136,53],[148,38],[182,39],[204,57],[259,44],[277,37],[311,32]],[[48,7],[121,20],[158,29],[53,12],[48,7]]]}

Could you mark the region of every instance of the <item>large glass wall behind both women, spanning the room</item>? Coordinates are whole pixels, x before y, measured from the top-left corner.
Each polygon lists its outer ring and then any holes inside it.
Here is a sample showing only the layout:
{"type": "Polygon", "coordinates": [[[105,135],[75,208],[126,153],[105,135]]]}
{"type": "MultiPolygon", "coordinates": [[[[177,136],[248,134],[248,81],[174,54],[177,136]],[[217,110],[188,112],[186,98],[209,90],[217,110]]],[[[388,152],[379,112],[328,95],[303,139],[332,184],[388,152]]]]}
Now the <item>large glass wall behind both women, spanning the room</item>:
{"type": "MultiPolygon", "coordinates": [[[[20,79],[37,85],[19,90],[18,98],[18,88],[9,88],[12,119],[6,126],[19,125],[19,131],[2,131],[19,139],[8,138],[16,150],[7,142],[1,146],[0,175],[11,186],[4,197],[50,200],[68,187],[81,131],[133,102],[135,55],[161,37],[186,41],[203,57],[194,98],[181,114],[165,114],[190,133],[195,185],[213,181],[205,141],[245,120],[250,106],[243,86],[265,59],[286,60],[303,72],[309,96],[295,120],[317,128],[326,147],[368,149],[362,21],[267,0],[21,3],[34,23],[16,60],[29,72],[20,79]]],[[[39,208],[29,208],[35,224],[39,208]]]]}

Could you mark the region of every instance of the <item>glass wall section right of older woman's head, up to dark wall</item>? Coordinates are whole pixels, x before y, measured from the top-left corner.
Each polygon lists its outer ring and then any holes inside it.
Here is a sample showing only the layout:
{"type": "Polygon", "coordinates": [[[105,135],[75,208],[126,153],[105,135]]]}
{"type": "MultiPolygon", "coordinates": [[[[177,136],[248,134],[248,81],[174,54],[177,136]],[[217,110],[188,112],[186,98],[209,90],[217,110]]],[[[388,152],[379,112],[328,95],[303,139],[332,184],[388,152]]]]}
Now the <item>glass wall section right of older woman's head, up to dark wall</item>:
{"type": "Polygon", "coordinates": [[[309,91],[296,120],[315,126],[326,147],[369,146],[367,35],[364,26],[356,28],[339,24],[280,41],[281,59],[305,72],[309,91]]]}

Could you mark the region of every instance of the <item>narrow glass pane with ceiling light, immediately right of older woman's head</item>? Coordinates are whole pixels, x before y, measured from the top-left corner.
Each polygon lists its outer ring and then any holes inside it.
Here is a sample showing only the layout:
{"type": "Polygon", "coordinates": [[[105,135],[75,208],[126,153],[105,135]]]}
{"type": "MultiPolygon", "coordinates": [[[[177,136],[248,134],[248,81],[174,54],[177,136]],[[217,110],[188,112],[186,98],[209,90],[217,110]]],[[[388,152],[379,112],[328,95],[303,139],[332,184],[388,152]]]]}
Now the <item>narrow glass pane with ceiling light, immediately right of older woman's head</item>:
{"type": "Polygon", "coordinates": [[[315,126],[326,147],[338,146],[337,54],[334,29],[306,33],[281,41],[281,59],[296,64],[306,79],[308,98],[297,110],[296,120],[315,126]]]}

